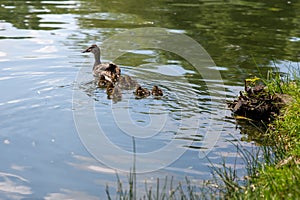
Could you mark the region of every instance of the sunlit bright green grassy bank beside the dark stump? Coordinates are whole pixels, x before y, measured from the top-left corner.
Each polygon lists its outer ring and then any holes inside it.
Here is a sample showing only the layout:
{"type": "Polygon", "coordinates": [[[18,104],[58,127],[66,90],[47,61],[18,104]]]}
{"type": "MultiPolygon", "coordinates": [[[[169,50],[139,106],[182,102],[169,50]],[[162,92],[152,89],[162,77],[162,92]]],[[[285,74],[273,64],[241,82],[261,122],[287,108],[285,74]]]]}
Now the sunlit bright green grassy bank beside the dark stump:
{"type": "MultiPolygon", "coordinates": [[[[276,86],[278,87],[278,86],[276,86]]],[[[277,90],[276,88],[275,90],[277,90]]],[[[271,199],[300,198],[300,80],[280,84],[293,101],[270,126],[274,160],[253,178],[253,193],[271,199]]]]}

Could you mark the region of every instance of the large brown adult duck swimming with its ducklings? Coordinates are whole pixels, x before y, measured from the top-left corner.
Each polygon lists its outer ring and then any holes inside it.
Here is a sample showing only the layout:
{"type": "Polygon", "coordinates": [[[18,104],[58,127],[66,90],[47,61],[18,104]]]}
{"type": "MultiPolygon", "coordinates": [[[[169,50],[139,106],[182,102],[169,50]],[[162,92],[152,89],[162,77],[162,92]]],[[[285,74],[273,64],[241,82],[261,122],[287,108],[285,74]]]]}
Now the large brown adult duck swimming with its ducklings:
{"type": "Polygon", "coordinates": [[[84,50],[82,53],[93,53],[95,62],[93,66],[93,74],[95,77],[99,78],[102,83],[115,83],[118,81],[121,75],[121,69],[116,64],[110,63],[102,63],[100,60],[100,48],[93,44],[84,50]]]}

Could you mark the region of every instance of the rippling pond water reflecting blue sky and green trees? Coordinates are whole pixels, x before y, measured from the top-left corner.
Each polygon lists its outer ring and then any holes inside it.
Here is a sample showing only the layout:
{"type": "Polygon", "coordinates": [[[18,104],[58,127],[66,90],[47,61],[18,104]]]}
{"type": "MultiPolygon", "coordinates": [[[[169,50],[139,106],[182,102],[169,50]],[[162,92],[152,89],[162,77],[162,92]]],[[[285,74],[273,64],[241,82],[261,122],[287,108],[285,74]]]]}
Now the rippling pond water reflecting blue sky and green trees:
{"type": "MultiPolygon", "coordinates": [[[[298,65],[299,10],[293,0],[0,0],[0,199],[105,199],[106,184],[115,190],[116,172],[126,182],[133,161],[139,193],[145,179],[211,178],[205,156],[234,165],[235,141],[255,142],[225,100],[245,78],[298,65]],[[195,67],[176,54],[192,46],[175,39],[173,52],[133,48],[157,31],[190,38],[211,59],[195,67]],[[93,56],[81,53],[94,43],[104,61],[164,96],[107,98],[93,82],[93,56]]],[[[236,167],[243,174],[241,160],[236,167]]]]}

